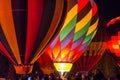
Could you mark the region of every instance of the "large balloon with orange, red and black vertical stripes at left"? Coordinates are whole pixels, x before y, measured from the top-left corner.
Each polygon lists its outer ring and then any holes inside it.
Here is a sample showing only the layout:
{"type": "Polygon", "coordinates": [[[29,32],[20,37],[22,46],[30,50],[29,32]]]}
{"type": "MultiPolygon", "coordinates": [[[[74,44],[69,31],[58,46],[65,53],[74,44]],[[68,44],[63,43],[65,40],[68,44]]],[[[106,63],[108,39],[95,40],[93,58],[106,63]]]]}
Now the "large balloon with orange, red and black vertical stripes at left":
{"type": "Polygon", "coordinates": [[[28,74],[59,32],[66,14],[64,0],[0,0],[0,51],[17,74],[28,74]]]}

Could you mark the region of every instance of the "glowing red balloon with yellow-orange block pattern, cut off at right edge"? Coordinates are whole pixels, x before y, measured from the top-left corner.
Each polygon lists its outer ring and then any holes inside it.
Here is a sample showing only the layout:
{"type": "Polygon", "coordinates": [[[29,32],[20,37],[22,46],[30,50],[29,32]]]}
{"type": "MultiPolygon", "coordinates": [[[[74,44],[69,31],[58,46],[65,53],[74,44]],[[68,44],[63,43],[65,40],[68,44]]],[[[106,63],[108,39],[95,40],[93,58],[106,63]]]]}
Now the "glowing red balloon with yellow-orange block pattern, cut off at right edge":
{"type": "Polygon", "coordinates": [[[107,50],[116,56],[118,66],[120,66],[120,17],[113,18],[107,23],[107,50]]]}

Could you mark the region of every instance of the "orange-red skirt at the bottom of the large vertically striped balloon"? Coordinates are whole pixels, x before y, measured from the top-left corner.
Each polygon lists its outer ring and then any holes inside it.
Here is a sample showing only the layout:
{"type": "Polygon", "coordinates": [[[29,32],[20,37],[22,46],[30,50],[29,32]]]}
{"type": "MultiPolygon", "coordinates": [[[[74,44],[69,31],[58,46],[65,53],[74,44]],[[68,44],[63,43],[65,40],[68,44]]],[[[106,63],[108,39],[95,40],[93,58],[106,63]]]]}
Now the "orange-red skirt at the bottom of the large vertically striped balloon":
{"type": "Polygon", "coordinates": [[[32,72],[32,69],[33,69],[33,64],[14,65],[14,68],[15,68],[16,74],[30,74],[32,72]]]}

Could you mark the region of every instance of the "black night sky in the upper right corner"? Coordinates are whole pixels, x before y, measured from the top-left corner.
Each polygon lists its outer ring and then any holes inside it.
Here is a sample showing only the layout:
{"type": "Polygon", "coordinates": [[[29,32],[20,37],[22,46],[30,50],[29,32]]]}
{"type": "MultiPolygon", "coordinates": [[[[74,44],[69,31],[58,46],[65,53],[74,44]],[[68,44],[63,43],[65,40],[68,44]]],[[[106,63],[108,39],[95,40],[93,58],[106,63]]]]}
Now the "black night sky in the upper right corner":
{"type": "Polygon", "coordinates": [[[95,0],[99,16],[106,21],[120,16],[120,0],[95,0]]]}

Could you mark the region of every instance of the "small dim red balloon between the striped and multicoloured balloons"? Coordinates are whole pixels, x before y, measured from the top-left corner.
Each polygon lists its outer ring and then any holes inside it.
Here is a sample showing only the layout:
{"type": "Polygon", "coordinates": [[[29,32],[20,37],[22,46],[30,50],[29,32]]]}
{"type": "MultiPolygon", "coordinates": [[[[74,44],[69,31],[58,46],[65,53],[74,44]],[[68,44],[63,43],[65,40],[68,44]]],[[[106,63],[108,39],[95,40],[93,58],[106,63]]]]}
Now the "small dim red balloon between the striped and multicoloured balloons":
{"type": "Polygon", "coordinates": [[[50,75],[54,73],[55,67],[50,56],[45,52],[37,60],[37,63],[44,74],[50,75]]]}

